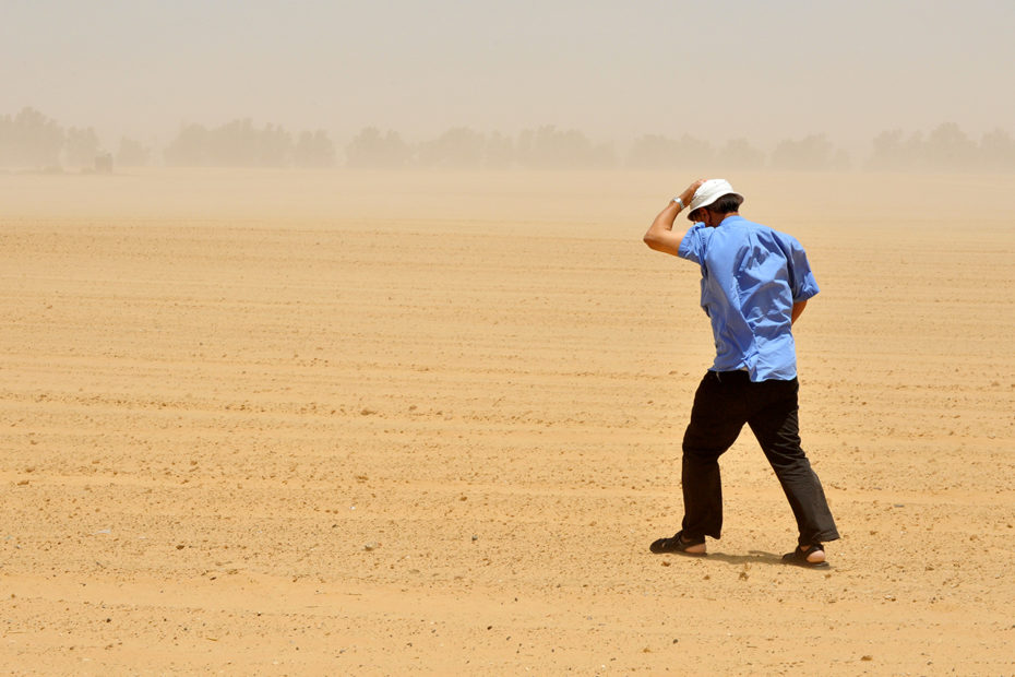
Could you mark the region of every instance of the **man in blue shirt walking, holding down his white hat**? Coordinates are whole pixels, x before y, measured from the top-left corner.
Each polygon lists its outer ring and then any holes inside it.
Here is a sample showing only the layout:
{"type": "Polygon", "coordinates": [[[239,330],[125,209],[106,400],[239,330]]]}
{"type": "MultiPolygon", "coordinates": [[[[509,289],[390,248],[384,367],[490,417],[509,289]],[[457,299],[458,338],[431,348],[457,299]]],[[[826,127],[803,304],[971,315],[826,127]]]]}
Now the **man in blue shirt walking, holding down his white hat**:
{"type": "Polygon", "coordinates": [[[724,179],[695,181],[664,209],[645,234],[656,251],[697,263],[702,308],[712,320],[716,358],[705,373],[683,438],[684,518],[653,553],[704,556],[705,536],[719,538],[719,456],[751,427],[793,515],[797,548],[787,563],[825,568],[823,543],[839,537],[817,475],[803,450],[797,418],[797,354],[792,324],[817,294],[807,254],[789,235],[740,216],[743,197],[724,179]],[[673,222],[684,207],[685,233],[673,222]]]}

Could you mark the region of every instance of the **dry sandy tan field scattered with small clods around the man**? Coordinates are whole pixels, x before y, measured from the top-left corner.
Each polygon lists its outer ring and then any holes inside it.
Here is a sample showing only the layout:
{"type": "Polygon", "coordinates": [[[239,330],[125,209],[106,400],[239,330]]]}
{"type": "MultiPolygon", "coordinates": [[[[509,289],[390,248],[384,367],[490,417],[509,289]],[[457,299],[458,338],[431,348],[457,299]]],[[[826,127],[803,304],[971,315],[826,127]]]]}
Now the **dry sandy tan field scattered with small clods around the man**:
{"type": "Polygon", "coordinates": [[[1013,177],[729,176],[798,236],[843,538],[654,556],[710,364],[691,176],[0,175],[14,674],[1015,674],[1013,177]]]}

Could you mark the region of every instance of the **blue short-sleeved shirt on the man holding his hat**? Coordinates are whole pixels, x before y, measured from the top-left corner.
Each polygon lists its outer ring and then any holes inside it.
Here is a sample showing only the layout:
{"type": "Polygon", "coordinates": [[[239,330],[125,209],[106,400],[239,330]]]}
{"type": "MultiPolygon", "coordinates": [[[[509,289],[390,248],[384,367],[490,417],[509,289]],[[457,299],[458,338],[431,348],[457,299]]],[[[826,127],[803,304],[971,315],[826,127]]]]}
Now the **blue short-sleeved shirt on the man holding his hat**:
{"type": "Polygon", "coordinates": [[[702,268],[702,308],[716,342],[712,369],[745,369],[752,381],[795,378],[790,313],[819,292],[800,242],[728,216],[715,228],[694,224],[678,256],[702,268]]]}

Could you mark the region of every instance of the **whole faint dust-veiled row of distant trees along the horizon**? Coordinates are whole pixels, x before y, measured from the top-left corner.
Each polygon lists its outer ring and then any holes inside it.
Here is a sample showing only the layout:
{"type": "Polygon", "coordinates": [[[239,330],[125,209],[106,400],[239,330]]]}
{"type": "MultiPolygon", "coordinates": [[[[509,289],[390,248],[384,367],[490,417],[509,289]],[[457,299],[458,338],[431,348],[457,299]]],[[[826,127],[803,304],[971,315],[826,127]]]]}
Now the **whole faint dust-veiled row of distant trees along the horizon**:
{"type": "Polygon", "coordinates": [[[765,152],[745,138],[716,145],[690,134],[644,134],[624,153],[573,129],[544,126],[515,136],[466,127],[410,143],[396,131],[368,127],[342,149],[323,130],[290,133],[238,119],[218,127],[184,124],[162,151],[121,138],[115,153],[92,128],[63,128],[34,108],[0,115],[0,167],[50,169],[166,164],[177,167],[334,167],[355,169],[775,169],[822,171],[1015,171],[1015,139],[998,129],[977,141],[954,122],[930,133],[889,130],[872,140],[860,162],[825,134],[786,139],[765,152]]]}

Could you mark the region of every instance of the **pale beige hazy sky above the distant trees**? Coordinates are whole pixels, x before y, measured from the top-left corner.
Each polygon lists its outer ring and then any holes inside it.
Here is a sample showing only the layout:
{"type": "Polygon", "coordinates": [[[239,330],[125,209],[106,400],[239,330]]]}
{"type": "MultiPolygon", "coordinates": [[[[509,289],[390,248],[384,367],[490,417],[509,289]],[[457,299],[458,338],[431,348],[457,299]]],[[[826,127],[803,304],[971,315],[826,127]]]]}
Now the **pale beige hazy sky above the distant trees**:
{"type": "Polygon", "coordinates": [[[538,124],[761,147],[1015,133],[1015,0],[0,0],[0,114],[165,141],[538,124]]]}

